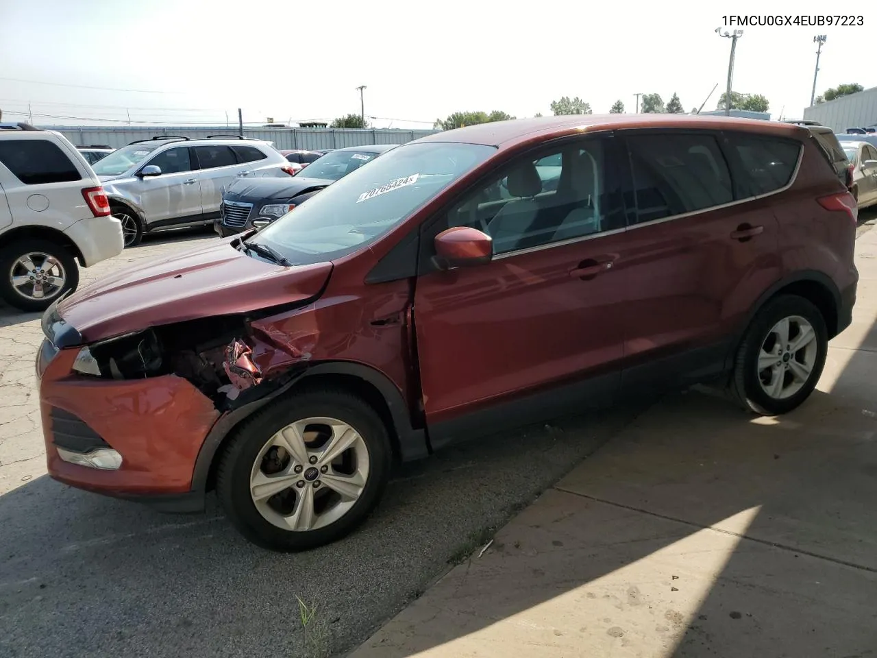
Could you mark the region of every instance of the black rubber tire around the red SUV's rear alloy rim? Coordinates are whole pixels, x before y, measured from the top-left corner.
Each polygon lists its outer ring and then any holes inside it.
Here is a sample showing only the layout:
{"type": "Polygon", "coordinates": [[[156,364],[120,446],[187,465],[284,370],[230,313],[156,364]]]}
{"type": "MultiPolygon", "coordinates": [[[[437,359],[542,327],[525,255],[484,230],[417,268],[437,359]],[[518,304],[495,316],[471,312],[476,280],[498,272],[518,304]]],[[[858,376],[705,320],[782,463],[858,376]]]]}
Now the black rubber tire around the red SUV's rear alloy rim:
{"type": "MultiPolygon", "coordinates": [[[[762,416],[778,416],[788,413],[800,406],[816,388],[816,383],[819,381],[825,366],[827,354],[828,331],[825,328],[825,319],[816,305],[795,295],[775,297],[765,304],[746,330],[743,343],[738,349],[734,362],[730,386],[731,396],[747,411],[753,411],[762,416]],[[774,325],[783,318],[793,316],[804,318],[813,327],[814,333],[816,333],[816,356],[809,376],[800,390],[789,397],[771,397],[759,380],[759,353],[774,325]]],[[[794,359],[795,355],[790,358],[794,359]]]]}

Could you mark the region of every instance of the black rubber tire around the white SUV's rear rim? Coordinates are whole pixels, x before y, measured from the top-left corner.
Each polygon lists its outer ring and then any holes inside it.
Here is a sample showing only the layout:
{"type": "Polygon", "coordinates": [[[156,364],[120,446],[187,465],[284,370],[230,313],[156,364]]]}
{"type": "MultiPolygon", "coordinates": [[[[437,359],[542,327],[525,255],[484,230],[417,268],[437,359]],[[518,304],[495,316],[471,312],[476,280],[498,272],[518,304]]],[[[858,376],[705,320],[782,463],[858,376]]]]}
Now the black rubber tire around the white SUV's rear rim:
{"type": "MultiPolygon", "coordinates": [[[[34,265],[41,263],[34,262],[34,265]]],[[[3,297],[7,304],[20,309],[21,311],[45,311],[55,299],[60,297],[68,290],[76,290],[79,285],[79,266],[76,259],[70,253],[68,247],[60,241],[48,240],[45,238],[25,238],[23,240],[15,240],[9,245],[0,248],[0,297],[3,297]],[[34,298],[30,297],[25,290],[25,294],[19,293],[12,284],[12,268],[16,267],[17,275],[29,275],[21,268],[16,266],[18,259],[26,254],[48,254],[61,264],[64,272],[64,283],[59,290],[53,290],[48,297],[34,298]]]]}

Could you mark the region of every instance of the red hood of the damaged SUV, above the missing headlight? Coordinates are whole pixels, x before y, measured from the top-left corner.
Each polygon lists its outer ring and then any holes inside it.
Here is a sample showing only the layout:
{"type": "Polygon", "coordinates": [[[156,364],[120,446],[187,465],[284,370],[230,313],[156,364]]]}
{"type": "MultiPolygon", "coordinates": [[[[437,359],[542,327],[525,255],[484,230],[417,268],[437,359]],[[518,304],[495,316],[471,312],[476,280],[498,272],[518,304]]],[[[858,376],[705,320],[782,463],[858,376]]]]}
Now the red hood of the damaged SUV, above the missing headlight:
{"type": "Polygon", "coordinates": [[[319,294],[331,262],[282,267],[232,247],[240,236],[125,268],[77,290],[57,312],[85,342],[196,318],[294,304],[319,294]]]}

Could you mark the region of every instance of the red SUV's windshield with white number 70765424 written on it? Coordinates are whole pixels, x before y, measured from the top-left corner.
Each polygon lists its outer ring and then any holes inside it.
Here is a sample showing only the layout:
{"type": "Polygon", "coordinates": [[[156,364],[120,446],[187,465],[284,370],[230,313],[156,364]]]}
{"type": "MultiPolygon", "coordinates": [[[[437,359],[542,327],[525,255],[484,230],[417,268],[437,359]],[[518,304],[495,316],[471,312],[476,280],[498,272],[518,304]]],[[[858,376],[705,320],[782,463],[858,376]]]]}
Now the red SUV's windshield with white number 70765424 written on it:
{"type": "Polygon", "coordinates": [[[448,142],[396,147],[332,183],[256,233],[252,241],[274,248],[297,265],[352,254],[495,153],[496,147],[448,142]]]}

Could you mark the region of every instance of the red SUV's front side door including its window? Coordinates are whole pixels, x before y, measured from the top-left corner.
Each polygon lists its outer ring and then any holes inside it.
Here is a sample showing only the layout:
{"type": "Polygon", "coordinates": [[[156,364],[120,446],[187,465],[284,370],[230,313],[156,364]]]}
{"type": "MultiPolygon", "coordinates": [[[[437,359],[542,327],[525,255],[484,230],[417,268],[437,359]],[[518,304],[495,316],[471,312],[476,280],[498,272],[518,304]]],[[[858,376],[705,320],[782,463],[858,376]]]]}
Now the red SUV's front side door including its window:
{"type": "Polygon", "coordinates": [[[617,168],[612,138],[555,145],[512,161],[427,230],[468,225],[494,240],[493,261],[417,280],[432,447],[612,401],[624,356],[617,168]],[[560,176],[540,175],[557,156],[560,176]]]}

